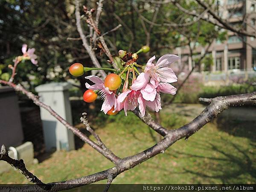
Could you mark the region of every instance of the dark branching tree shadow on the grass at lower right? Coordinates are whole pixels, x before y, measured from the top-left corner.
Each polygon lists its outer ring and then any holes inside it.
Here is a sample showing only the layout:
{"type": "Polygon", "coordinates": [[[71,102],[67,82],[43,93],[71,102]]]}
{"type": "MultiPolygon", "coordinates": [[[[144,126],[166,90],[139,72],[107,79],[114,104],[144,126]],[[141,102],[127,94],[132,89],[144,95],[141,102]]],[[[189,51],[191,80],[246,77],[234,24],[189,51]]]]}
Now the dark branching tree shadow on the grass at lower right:
{"type": "MultiPolygon", "coordinates": [[[[172,174],[194,175],[194,180],[200,183],[200,180],[208,178],[209,181],[219,179],[221,183],[237,183],[248,175],[256,178],[256,167],[253,165],[253,160],[250,157],[250,150],[225,140],[221,137],[221,145],[207,143],[201,145],[198,143],[199,151],[211,151],[211,154],[193,154],[193,152],[184,152],[172,150],[172,154],[166,153],[169,156],[176,157],[177,160],[185,158],[187,161],[193,161],[193,166],[186,166],[180,172],[172,172],[172,174]],[[223,148],[221,146],[224,146],[223,148]],[[228,149],[225,147],[228,146],[228,149]],[[188,168],[191,167],[191,168],[188,168]],[[202,178],[202,179],[200,179],[202,178]]],[[[250,143],[251,147],[255,147],[254,143],[250,143]]],[[[195,152],[196,153],[196,152],[195,152]]],[[[168,170],[165,170],[168,171],[168,170]]],[[[250,181],[247,181],[251,184],[250,181]]]]}

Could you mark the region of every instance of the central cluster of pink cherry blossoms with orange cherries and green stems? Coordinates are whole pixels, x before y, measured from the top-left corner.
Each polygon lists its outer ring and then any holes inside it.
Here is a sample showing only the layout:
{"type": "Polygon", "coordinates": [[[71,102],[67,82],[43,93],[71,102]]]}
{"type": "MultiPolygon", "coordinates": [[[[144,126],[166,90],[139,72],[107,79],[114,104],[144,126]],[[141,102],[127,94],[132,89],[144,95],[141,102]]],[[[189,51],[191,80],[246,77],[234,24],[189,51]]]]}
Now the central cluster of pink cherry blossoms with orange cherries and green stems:
{"type": "MultiPolygon", "coordinates": [[[[146,65],[137,64],[136,53],[120,50],[119,57],[122,59],[123,68],[115,71],[116,73],[110,73],[105,80],[98,76],[85,77],[94,83],[85,84],[88,88],[84,92],[85,102],[93,102],[99,95],[104,100],[101,111],[105,114],[115,115],[123,109],[127,116],[128,110],[133,111],[138,107],[141,115],[145,116],[146,107],[156,112],[162,109],[160,93],[175,95],[177,89],[170,83],[177,81],[171,68],[171,64],[179,58],[177,55],[163,55],[156,64],[153,56],[146,65]],[[143,72],[140,73],[137,67],[142,68],[143,72]]],[[[71,74],[75,71],[72,71],[72,67],[71,74]]],[[[88,67],[84,68],[84,71],[90,70],[88,67]]]]}

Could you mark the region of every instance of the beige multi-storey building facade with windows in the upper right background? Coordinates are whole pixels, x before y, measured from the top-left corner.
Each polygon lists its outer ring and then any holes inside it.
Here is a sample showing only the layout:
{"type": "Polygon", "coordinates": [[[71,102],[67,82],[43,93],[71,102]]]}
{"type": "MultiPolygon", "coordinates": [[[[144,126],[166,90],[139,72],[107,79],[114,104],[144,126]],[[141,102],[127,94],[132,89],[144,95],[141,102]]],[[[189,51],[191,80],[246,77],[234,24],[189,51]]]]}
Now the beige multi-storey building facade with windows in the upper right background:
{"type": "MultiPolygon", "coordinates": [[[[218,14],[227,20],[232,26],[242,26],[247,32],[256,31],[256,1],[255,0],[218,0],[218,14]],[[247,24],[246,24],[247,23],[247,24]]],[[[188,65],[188,69],[193,67],[194,57],[204,54],[206,47],[195,46],[195,55],[189,56],[189,46],[177,47],[176,55],[180,56],[179,63],[188,65]]],[[[238,36],[234,32],[227,32],[226,41],[212,43],[207,51],[207,55],[212,56],[213,64],[199,67],[200,72],[209,71],[211,73],[236,72],[256,70],[256,38],[248,36],[238,36]]],[[[197,69],[198,70],[198,69],[197,69]]]]}

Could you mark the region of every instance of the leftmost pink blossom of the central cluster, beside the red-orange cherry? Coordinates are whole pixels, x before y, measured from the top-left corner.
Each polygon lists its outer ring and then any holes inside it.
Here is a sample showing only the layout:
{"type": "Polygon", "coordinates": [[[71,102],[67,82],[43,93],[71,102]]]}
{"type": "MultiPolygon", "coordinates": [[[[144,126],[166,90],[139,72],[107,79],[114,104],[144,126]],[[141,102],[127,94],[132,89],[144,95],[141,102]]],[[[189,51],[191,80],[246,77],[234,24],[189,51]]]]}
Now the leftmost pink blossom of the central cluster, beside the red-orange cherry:
{"type": "Polygon", "coordinates": [[[86,88],[91,90],[98,90],[100,97],[104,100],[101,111],[106,114],[109,110],[111,110],[113,106],[114,111],[116,111],[118,107],[116,94],[113,93],[113,91],[109,90],[108,87],[105,87],[104,81],[97,76],[86,76],[85,79],[89,79],[90,81],[95,83],[93,85],[85,83],[86,88]]]}

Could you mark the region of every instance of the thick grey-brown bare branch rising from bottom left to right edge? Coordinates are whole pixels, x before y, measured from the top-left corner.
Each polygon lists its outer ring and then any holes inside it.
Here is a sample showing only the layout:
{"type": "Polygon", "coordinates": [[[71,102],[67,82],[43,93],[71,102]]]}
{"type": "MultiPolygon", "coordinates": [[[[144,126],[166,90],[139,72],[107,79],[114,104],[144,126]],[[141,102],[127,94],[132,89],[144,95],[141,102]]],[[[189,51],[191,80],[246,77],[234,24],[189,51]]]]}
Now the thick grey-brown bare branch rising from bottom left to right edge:
{"type": "MultiPolygon", "coordinates": [[[[207,108],[205,108],[204,111],[199,116],[197,116],[194,120],[178,129],[169,130],[168,134],[166,134],[163,140],[160,140],[156,145],[133,156],[123,158],[116,167],[107,169],[105,171],[98,172],[93,175],[88,175],[85,177],[80,177],[77,179],[48,183],[49,185],[52,185],[52,188],[49,190],[49,192],[72,189],[82,185],[94,183],[99,180],[108,179],[109,175],[114,173],[116,173],[116,175],[119,175],[120,173],[128,169],[131,169],[134,166],[137,166],[138,164],[154,157],[157,154],[164,153],[164,151],[177,140],[180,140],[184,137],[188,138],[227,108],[231,106],[237,107],[241,105],[256,105],[256,92],[213,98],[211,99],[211,102],[207,106],[207,108]]],[[[19,192],[43,192],[43,189],[36,185],[8,187],[8,189],[12,189],[12,191],[19,192]]]]}

